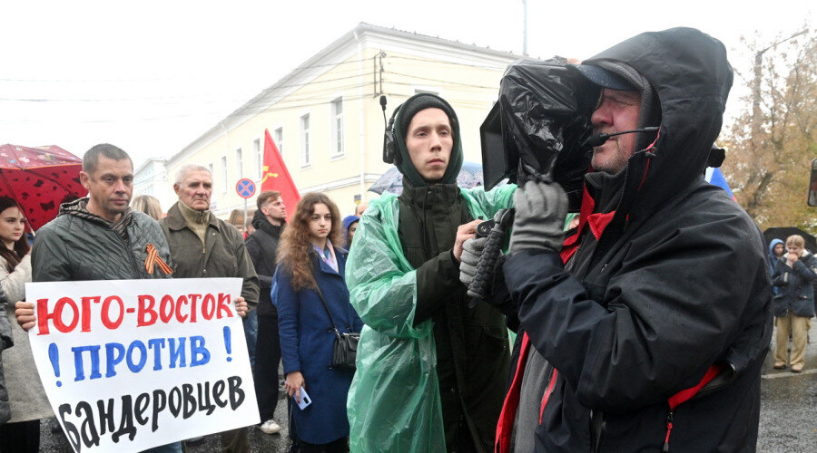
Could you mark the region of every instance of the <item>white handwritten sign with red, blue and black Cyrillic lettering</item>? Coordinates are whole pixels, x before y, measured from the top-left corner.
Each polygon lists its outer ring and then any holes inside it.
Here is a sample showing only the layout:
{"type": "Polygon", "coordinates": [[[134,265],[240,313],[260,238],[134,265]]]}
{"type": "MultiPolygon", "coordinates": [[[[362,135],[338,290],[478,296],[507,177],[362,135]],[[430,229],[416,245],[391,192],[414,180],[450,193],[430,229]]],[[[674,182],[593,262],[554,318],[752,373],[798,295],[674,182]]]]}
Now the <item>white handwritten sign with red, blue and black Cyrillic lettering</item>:
{"type": "Polygon", "coordinates": [[[240,278],[25,284],[45,393],[74,451],[139,451],[259,422],[240,278]]]}

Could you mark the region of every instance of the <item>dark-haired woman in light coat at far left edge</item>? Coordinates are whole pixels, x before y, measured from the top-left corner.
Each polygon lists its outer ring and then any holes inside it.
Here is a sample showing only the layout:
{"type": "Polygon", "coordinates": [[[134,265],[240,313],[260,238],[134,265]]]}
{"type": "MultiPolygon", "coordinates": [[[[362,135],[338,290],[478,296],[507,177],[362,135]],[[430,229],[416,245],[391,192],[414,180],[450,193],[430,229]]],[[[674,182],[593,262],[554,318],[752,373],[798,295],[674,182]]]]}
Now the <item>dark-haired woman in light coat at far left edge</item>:
{"type": "Polygon", "coordinates": [[[13,198],[0,197],[0,303],[5,307],[14,347],[3,352],[3,377],[8,389],[11,419],[0,427],[0,452],[37,451],[40,419],[54,413],[34,366],[28,334],[15,320],[14,306],[25,300],[31,282],[31,255],[25,237],[25,217],[13,198]]]}

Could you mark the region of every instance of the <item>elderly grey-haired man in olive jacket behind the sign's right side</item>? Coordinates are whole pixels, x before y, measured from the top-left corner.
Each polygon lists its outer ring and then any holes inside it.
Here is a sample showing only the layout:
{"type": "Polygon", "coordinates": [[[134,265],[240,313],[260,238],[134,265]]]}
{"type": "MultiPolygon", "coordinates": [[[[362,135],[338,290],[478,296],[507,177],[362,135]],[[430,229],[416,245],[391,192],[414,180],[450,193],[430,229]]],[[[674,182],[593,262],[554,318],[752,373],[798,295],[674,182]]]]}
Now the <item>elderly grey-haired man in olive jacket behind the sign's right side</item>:
{"type": "MultiPolygon", "coordinates": [[[[241,296],[258,304],[258,275],[241,233],[210,211],[212,174],[201,165],[186,165],[176,175],[173,190],[179,196],[159,221],[176,265],[175,278],[240,277],[241,296]]],[[[221,450],[250,451],[248,429],[221,433],[221,450]]]]}

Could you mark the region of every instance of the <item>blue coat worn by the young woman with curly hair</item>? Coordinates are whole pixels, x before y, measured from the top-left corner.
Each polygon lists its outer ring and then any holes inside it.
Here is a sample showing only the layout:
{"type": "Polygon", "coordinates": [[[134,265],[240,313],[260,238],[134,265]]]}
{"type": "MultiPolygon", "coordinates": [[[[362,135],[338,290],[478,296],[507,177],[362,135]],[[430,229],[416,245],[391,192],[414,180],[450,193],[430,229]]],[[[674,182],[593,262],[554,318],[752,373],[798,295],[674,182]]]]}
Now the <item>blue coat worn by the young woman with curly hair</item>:
{"type": "MultiPolygon", "coordinates": [[[[335,255],[340,273],[317,255],[312,258],[312,272],[338,330],[360,332],[363,322],[349,304],[349,290],[343,277],[347,253],[336,247],[335,255]]],[[[325,444],[349,436],[346,397],[354,371],[329,368],[335,342],[330,317],[315,290],[292,288],[291,275],[281,265],[272,280],[271,296],[278,306],[284,373],[300,371],[312,400],[305,410],[293,407],[298,438],[310,444],[325,444]]]]}

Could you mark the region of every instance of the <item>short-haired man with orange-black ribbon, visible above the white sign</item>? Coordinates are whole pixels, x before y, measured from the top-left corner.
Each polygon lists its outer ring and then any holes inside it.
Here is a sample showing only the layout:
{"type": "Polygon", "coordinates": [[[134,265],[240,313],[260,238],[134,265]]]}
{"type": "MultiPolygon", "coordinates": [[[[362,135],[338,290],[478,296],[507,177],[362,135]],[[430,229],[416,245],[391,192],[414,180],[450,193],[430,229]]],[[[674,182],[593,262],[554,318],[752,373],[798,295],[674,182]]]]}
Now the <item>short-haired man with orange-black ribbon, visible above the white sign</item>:
{"type": "Polygon", "coordinates": [[[127,153],[109,144],[94,146],[83,157],[80,180],[89,197],[65,203],[37,231],[34,282],[170,277],[162,229],[129,207],[133,163],[127,153]]]}

